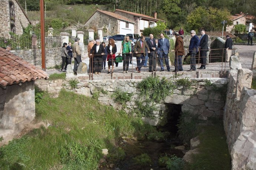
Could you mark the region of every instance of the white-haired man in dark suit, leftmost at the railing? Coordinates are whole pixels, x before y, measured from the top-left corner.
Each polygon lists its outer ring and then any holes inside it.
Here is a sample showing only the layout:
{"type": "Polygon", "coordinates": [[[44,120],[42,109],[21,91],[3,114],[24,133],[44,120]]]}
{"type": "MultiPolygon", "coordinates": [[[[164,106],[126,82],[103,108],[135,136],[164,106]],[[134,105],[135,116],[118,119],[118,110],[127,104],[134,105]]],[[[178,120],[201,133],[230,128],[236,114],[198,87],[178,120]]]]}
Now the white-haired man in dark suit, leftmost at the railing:
{"type": "Polygon", "coordinates": [[[101,45],[101,41],[96,40],[96,44],[93,45],[90,53],[90,56],[94,55],[94,74],[101,74],[103,55],[105,54],[105,48],[101,45]]]}

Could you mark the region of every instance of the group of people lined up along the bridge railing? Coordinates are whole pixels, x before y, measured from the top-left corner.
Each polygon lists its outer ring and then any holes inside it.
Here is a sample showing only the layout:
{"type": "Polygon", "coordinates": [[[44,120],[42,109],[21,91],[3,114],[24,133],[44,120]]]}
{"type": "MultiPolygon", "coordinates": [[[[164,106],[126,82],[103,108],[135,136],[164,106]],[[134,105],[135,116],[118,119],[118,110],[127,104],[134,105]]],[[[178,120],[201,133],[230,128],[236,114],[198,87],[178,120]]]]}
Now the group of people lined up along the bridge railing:
{"type": "MultiPolygon", "coordinates": [[[[183,71],[182,67],[182,58],[185,55],[184,42],[183,42],[184,31],[179,30],[175,32],[174,36],[176,38],[175,48],[172,50],[175,52],[174,60],[174,70],[173,72],[183,71]]],[[[196,70],[196,55],[200,54],[200,64],[201,66],[198,69],[206,69],[206,65],[209,63],[209,53],[210,53],[210,40],[209,35],[205,33],[205,30],[200,31],[201,37],[198,38],[196,31],[191,30],[190,35],[190,44],[188,48],[188,55],[190,55],[190,69],[188,71],[196,70]]],[[[252,35],[253,36],[253,35],[252,35]]],[[[233,41],[226,36],[227,40],[225,43],[226,48],[226,62],[229,62],[233,41]]],[[[118,65],[116,61],[116,52],[117,48],[115,41],[113,39],[108,40],[109,43],[106,46],[105,42],[100,42],[100,40],[93,40],[89,38],[88,44],[88,56],[89,56],[89,72],[94,74],[101,74],[102,69],[106,69],[106,63],[108,64],[108,74],[114,72],[114,66],[118,65]],[[112,67],[112,68],[111,68],[112,67]]],[[[249,42],[249,41],[248,41],[249,42]]],[[[160,34],[160,39],[155,39],[154,35],[150,34],[150,38],[145,41],[145,37],[141,36],[140,40],[137,41],[134,45],[129,39],[129,36],[125,36],[124,40],[121,43],[121,49],[119,55],[122,54],[123,61],[123,73],[128,73],[129,64],[131,64],[132,57],[136,57],[137,67],[135,67],[138,73],[141,72],[141,68],[145,65],[146,56],[149,58],[149,67],[148,71],[153,72],[156,70],[157,57],[160,64],[160,72],[164,70],[164,62],[166,69],[170,72],[169,57],[168,53],[170,50],[170,43],[167,38],[164,37],[164,34],[160,34]]],[[[119,56],[118,55],[118,56],[119,56]]],[[[71,64],[72,58],[75,59],[75,65],[73,68],[74,74],[78,69],[78,65],[81,60],[81,51],[79,47],[79,38],[75,38],[75,43],[71,46],[71,43],[63,43],[62,52],[62,68],[61,71],[65,72],[67,65],[71,64]],[[66,63],[66,65],[65,65],[66,63]],[[65,67],[64,67],[65,65],[65,67]]]]}

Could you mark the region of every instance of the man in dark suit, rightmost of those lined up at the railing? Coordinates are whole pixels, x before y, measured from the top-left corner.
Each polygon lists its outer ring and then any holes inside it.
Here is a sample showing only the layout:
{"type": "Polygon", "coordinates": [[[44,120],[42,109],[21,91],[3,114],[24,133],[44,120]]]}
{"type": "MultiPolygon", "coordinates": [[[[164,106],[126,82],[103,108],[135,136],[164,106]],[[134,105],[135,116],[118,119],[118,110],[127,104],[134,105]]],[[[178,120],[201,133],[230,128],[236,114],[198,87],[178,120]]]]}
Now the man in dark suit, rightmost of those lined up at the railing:
{"type": "Polygon", "coordinates": [[[199,69],[205,69],[206,59],[207,59],[207,51],[208,51],[208,35],[204,30],[201,30],[201,38],[199,40],[199,50],[200,50],[200,63],[201,67],[199,69]]]}

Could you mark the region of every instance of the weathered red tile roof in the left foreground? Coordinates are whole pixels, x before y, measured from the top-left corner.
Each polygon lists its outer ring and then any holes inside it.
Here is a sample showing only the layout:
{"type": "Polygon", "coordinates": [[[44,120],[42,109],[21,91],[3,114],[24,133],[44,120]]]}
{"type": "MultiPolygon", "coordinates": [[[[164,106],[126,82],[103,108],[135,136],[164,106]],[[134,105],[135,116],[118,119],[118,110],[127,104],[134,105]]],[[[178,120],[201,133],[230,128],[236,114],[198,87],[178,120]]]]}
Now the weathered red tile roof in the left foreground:
{"type": "Polygon", "coordinates": [[[6,49],[0,48],[0,86],[17,84],[36,79],[47,79],[48,74],[14,55],[6,49]]]}

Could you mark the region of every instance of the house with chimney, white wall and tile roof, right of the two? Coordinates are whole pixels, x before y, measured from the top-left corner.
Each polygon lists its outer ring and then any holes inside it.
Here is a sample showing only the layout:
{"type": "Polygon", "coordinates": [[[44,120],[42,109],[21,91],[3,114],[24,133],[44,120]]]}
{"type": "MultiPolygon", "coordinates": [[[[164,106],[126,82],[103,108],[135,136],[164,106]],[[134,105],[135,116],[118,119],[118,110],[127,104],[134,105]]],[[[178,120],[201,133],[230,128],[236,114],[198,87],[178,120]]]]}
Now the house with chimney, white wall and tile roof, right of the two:
{"type": "Polygon", "coordinates": [[[157,12],[154,13],[154,17],[150,17],[143,14],[116,9],[115,14],[119,14],[121,16],[129,18],[129,20],[132,20],[132,22],[135,23],[134,34],[139,35],[142,35],[144,28],[157,26],[157,21],[166,22],[164,20],[157,19],[157,12]]]}

